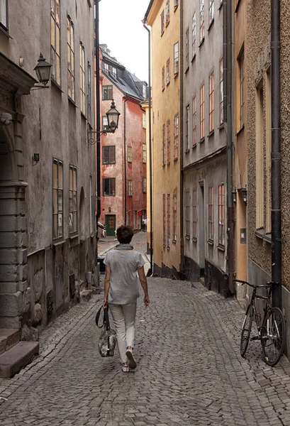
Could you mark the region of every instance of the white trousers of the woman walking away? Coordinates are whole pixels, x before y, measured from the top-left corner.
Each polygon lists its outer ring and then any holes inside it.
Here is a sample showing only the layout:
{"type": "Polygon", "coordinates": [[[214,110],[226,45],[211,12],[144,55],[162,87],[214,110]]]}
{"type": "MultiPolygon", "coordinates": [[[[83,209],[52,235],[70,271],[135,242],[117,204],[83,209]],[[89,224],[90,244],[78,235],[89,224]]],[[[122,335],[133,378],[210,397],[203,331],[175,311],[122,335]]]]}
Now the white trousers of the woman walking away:
{"type": "Polygon", "coordinates": [[[118,351],[121,362],[127,362],[126,349],[134,346],[136,303],[130,305],[108,305],[117,333],[118,351]]]}

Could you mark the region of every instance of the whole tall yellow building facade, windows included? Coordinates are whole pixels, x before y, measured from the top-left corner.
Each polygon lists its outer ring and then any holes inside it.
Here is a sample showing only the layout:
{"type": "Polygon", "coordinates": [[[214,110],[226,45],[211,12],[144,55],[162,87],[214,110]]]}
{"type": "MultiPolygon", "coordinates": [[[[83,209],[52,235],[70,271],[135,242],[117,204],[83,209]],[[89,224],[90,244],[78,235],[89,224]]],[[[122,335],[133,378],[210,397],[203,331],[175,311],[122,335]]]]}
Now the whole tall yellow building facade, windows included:
{"type": "Polygon", "coordinates": [[[177,278],[183,273],[180,13],[178,0],[152,0],[145,13],[152,36],[153,272],[177,278]]]}

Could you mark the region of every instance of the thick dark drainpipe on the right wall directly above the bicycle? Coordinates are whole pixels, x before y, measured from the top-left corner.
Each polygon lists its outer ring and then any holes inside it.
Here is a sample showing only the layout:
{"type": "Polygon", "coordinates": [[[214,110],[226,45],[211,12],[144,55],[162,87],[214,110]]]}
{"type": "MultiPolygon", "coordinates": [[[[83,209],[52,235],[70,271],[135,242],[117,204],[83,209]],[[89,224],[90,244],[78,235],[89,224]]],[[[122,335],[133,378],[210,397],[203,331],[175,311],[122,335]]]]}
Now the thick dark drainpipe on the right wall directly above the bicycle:
{"type": "Polygon", "coordinates": [[[281,98],[280,98],[280,0],[271,1],[271,119],[272,119],[272,281],[279,283],[272,295],[281,308],[281,98]]]}

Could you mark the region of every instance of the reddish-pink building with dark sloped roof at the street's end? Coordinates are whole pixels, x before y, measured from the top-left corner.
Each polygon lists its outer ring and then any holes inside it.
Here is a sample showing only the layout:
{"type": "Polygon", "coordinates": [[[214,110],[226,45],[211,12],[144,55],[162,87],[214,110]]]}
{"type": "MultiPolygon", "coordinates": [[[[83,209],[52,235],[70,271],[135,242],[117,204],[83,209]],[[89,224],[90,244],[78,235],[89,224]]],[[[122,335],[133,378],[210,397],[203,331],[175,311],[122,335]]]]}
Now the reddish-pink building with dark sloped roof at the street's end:
{"type": "Polygon", "coordinates": [[[106,235],[118,226],[145,229],[147,219],[146,114],[141,103],[147,83],[141,82],[101,45],[101,131],[112,100],[121,113],[115,133],[101,136],[101,222],[106,235]]]}

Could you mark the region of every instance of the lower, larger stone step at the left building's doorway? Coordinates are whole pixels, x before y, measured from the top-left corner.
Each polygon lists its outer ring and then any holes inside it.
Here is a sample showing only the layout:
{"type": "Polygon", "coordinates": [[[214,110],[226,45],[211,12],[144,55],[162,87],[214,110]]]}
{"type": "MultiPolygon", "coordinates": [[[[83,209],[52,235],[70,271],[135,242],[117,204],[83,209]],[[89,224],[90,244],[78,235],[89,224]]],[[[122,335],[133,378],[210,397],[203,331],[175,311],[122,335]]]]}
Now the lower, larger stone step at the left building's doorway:
{"type": "Polygon", "coordinates": [[[38,342],[19,342],[0,355],[0,377],[11,378],[39,353],[38,342]]]}

